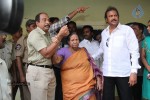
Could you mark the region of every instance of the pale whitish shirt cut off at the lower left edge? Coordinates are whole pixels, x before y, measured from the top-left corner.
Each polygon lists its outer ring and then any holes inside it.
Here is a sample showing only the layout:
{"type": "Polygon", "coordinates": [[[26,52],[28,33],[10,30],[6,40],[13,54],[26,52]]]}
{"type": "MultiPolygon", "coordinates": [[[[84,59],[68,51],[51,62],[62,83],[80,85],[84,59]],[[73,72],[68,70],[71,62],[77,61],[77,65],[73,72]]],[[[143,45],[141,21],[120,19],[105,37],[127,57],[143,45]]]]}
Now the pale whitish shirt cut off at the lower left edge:
{"type": "Polygon", "coordinates": [[[11,99],[11,81],[6,62],[0,58],[0,100],[11,99]]]}

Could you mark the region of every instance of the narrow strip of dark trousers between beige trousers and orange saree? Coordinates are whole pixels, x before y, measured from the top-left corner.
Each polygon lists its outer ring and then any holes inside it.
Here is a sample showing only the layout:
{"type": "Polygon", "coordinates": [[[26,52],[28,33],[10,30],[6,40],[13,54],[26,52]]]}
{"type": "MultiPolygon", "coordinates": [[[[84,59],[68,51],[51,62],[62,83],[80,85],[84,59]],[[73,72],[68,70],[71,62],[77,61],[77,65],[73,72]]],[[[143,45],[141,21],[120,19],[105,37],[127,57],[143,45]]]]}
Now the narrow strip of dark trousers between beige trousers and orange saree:
{"type": "Polygon", "coordinates": [[[63,100],[60,68],[54,67],[54,72],[56,77],[55,100],[63,100]]]}

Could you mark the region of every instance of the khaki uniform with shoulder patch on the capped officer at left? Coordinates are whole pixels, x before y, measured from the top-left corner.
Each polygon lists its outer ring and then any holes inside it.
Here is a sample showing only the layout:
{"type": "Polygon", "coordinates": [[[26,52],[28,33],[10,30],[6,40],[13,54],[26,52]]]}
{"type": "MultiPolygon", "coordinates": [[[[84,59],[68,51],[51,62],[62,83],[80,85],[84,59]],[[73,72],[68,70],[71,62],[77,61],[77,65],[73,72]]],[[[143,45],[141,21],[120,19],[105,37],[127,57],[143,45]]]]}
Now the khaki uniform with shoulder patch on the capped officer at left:
{"type": "MultiPolygon", "coordinates": [[[[27,36],[21,36],[19,40],[17,41],[16,47],[15,47],[15,55],[16,57],[19,56],[22,59],[22,70],[24,75],[26,75],[26,70],[27,70],[27,63],[28,63],[28,48],[27,48],[27,36]]],[[[27,84],[28,85],[28,84],[27,84]]],[[[21,85],[21,98],[23,100],[30,100],[30,92],[28,89],[28,86],[26,85],[21,85]]]]}

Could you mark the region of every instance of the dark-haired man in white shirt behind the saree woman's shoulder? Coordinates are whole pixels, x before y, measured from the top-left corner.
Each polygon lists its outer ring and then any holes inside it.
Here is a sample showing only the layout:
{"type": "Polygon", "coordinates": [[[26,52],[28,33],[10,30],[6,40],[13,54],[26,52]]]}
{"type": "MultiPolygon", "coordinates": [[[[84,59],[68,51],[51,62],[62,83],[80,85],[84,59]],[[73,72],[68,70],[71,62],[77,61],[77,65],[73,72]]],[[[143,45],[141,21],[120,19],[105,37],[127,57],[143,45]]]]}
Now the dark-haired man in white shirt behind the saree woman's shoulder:
{"type": "MultiPolygon", "coordinates": [[[[96,53],[95,51],[99,49],[98,41],[93,39],[93,27],[85,25],[82,28],[82,32],[84,39],[80,42],[79,47],[85,47],[92,56],[96,53]]],[[[100,59],[95,59],[95,63],[98,67],[101,67],[102,62],[100,62],[100,59]]]]}

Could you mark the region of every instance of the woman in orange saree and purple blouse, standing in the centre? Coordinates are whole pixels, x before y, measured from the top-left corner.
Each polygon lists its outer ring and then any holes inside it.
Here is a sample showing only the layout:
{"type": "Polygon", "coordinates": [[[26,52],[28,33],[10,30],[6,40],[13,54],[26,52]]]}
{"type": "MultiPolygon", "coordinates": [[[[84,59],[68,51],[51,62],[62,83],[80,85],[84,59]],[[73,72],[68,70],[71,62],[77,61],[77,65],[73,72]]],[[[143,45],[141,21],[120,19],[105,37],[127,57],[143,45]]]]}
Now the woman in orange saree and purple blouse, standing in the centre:
{"type": "Polygon", "coordinates": [[[76,33],[69,34],[68,45],[53,56],[53,63],[61,67],[63,100],[96,100],[95,88],[102,90],[102,73],[87,50],[78,47],[76,33]]]}

